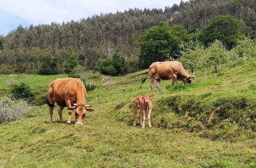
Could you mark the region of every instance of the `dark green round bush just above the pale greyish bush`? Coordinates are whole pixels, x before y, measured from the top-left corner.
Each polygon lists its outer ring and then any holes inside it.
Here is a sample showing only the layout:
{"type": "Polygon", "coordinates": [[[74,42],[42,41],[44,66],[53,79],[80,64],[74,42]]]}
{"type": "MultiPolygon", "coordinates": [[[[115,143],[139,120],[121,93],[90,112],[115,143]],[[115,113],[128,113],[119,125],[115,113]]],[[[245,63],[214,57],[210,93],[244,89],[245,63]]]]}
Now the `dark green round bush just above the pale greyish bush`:
{"type": "Polygon", "coordinates": [[[11,90],[12,99],[24,99],[28,102],[34,100],[34,94],[31,92],[30,87],[26,83],[20,83],[13,85],[11,90]]]}

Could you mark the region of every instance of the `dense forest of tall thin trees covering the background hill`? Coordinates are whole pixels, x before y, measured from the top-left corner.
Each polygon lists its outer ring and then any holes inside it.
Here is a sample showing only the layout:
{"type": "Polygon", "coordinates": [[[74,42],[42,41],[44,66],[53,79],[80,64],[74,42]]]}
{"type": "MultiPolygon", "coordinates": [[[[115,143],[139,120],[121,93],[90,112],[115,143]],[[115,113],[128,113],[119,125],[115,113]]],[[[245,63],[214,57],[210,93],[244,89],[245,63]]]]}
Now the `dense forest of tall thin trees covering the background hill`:
{"type": "Polygon", "coordinates": [[[67,23],[20,25],[7,36],[0,36],[0,69],[37,70],[46,53],[54,55],[62,69],[72,53],[88,69],[99,66],[101,59],[110,58],[115,52],[128,65],[135,66],[140,53],[139,36],[145,29],[167,21],[183,25],[188,33],[199,33],[217,15],[232,15],[241,20],[243,33],[251,39],[256,37],[256,0],[181,1],[165,9],[135,8],[67,23]]]}

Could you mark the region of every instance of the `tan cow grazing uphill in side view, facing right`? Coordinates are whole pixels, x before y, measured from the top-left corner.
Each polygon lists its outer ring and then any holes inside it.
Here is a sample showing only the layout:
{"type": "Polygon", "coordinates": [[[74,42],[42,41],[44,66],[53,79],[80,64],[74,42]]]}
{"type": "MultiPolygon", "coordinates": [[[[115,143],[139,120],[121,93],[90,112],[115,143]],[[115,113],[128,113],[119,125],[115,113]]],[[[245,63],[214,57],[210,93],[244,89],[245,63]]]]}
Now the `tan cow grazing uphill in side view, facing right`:
{"type": "MultiPolygon", "coordinates": [[[[160,89],[160,81],[162,80],[173,80],[173,85],[177,83],[178,80],[183,81],[183,83],[191,83],[194,79],[194,75],[189,75],[187,71],[184,69],[182,64],[178,61],[165,61],[165,62],[155,62],[152,63],[150,68],[148,69],[147,76],[150,75],[150,86],[151,91],[154,87],[154,80],[157,81],[156,87],[159,92],[160,89]]],[[[144,83],[147,76],[142,80],[141,83],[144,83]]]]}

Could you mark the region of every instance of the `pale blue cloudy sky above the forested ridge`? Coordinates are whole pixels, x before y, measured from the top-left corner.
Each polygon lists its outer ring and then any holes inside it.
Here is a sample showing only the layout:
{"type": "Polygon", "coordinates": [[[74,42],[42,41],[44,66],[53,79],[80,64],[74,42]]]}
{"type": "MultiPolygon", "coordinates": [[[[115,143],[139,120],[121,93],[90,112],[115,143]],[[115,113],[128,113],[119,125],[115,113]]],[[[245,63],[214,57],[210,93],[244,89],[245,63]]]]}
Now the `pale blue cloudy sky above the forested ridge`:
{"type": "Polygon", "coordinates": [[[0,0],[0,35],[6,36],[18,25],[78,21],[100,13],[116,13],[139,8],[162,8],[181,0],[0,0]]]}

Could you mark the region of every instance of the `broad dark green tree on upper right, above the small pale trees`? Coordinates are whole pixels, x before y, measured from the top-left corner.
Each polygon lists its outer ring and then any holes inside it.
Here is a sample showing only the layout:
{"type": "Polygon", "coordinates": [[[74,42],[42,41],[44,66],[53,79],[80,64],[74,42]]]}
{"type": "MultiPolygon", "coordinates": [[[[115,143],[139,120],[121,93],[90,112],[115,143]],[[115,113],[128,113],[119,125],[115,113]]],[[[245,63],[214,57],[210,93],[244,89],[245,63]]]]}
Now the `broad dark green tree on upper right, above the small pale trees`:
{"type": "Polygon", "coordinates": [[[242,24],[233,16],[219,15],[212,19],[210,25],[203,29],[200,37],[205,46],[217,39],[230,50],[237,45],[239,39],[243,38],[242,24]]]}

